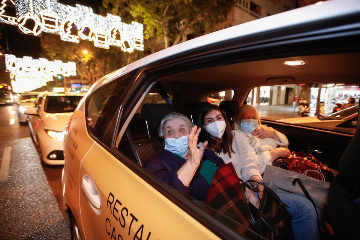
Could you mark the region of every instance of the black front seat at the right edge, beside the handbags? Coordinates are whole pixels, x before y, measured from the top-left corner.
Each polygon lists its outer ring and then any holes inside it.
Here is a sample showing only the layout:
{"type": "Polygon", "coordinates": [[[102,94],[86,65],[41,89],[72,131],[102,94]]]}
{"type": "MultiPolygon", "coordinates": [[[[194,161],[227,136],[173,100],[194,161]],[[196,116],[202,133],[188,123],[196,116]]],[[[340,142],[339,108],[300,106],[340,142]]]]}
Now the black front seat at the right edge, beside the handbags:
{"type": "Polygon", "coordinates": [[[360,128],[339,161],[339,172],[330,184],[328,205],[336,239],[357,239],[360,226],[360,128]]]}

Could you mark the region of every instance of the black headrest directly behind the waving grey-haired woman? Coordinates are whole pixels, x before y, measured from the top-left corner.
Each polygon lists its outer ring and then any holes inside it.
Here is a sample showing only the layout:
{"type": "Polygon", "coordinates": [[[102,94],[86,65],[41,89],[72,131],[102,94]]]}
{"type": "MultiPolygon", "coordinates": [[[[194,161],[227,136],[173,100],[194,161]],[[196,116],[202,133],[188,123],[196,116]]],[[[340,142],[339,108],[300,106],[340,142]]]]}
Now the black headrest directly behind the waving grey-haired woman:
{"type": "Polygon", "coordinates": [[[141,108],[141,118],[148,121],[152,130],[158,130],[161,120],[169,113],[175,112],[172,104],[168,103],[146,103],[141,108]]]}

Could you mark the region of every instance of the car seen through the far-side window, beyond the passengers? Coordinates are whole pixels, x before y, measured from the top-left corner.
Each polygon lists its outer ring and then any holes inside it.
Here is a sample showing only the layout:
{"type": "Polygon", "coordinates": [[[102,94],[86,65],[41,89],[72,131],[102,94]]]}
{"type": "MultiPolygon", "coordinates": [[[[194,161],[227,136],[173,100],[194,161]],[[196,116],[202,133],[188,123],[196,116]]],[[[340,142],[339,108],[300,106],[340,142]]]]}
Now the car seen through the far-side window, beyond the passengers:
{"type": "Polygon", "coordinates": [[[355,133],[358,112],[359,112],[359,105],[355,105],[350,108],[345,108],[338,112],[322,117],[319,116],[319,117],[283,118],[276,121],[328,129],[332,131],[355,133]]]}

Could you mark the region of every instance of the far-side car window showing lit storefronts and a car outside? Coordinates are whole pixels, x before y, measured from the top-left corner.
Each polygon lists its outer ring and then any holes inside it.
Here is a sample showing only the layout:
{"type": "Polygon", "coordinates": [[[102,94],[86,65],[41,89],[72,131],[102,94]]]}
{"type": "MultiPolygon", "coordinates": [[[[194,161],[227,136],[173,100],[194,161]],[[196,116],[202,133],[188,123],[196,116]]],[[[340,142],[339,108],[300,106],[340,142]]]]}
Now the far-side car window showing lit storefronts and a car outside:
{"type": "Polygon", "coordinates": [[[354,134],[359,96],[354,84],[300,83],[255,87],[246,101],[262,119],[354,134]]]}

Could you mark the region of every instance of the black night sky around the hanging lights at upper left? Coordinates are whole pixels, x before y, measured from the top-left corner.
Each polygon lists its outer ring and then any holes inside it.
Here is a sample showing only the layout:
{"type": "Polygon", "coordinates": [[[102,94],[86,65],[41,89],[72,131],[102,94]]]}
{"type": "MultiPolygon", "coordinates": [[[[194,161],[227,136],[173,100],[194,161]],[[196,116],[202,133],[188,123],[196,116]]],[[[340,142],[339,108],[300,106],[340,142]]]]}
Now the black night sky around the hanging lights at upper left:
{"type": "MultiPolygon", "coordinates": [[[[78,3],[85,6],[90,6],[96,13],[96,6],[102,5],[102,0],[60,0],[60,3],[74,4],[78,3]]],[[[71,5],[72,5],[71,4],[71,5]]],[[[30,36],[19,32],[17,26],[9,24],[1,24],[1,39],[0,45],[5,53],[14,54],[17,57],[32,56],[33,58],[39,58],[40,53],[40,37],[30,36]],[[6,31],[6,34],[5,34],[6,31]],[[8,40],[9,49],[6,47],[6,39],[8,40]]],[[[60,38],[60,36],[58,36],[60,38]]]]}

